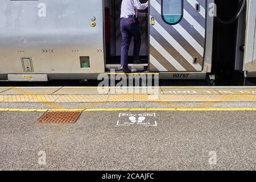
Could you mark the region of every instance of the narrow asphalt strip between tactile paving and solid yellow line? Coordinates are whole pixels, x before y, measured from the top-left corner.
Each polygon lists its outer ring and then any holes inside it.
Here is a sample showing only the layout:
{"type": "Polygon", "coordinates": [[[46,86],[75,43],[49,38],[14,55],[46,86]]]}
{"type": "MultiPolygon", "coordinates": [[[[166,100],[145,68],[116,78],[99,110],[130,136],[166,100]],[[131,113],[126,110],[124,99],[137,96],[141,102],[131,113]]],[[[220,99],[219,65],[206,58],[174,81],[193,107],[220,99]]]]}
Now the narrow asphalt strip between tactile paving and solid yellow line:
{"type": "MultiPolygon", "coordinates": [[[[206,102],[0,102],[11,109],[198,108],[206,102]]],[[[256,108],[256,102],[207,102],[202,108],[256,108]]]]}

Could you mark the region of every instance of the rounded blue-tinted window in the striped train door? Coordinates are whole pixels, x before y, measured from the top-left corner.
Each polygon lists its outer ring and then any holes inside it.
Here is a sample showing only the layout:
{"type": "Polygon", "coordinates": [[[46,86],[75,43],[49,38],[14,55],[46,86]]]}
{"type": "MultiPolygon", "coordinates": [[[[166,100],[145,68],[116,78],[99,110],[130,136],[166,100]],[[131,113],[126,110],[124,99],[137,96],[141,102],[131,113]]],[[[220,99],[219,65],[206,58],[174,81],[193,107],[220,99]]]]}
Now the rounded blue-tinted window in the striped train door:
{"type": "Polygon", "coordinates": [[[183,0],[162,0],[162,18],[168,24],[177,24],[183,18],[183,0]]]}

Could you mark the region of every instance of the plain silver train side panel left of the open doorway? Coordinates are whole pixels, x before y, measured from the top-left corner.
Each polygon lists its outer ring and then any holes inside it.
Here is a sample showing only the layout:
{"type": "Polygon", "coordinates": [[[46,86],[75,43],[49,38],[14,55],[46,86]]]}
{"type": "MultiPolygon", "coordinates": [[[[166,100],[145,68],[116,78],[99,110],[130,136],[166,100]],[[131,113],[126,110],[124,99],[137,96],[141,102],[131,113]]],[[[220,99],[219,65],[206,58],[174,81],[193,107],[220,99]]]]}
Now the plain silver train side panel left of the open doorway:
{"type": "Polygon", "coordinates": [[[102,12],[102,0],[1,1],[0,74],[104,72],[102,12]]]}

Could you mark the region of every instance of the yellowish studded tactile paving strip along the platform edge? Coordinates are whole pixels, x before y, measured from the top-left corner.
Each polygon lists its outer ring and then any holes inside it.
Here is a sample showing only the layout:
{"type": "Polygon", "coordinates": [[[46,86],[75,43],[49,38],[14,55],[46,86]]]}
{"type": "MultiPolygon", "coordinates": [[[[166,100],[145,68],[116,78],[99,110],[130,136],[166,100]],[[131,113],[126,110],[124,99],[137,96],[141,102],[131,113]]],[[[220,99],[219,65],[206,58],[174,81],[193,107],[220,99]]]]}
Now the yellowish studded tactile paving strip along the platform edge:
{"type": "Polygon", "coordinates": [[[0,95],[1,102],[255,102],[251,94],[0,95]]]}

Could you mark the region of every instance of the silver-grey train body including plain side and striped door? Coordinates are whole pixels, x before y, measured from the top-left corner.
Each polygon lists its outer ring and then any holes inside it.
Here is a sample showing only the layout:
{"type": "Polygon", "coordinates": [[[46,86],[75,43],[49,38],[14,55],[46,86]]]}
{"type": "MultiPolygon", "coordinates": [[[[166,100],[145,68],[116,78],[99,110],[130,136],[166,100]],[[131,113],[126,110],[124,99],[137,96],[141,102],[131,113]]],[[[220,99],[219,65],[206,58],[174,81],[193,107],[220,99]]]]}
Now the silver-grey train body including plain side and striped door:
{"type": "MultiPolygon", "coordinates": [[[[106,63],[104,12],[112,1],[2,0],[0,80],[95,79],[109,68],[118,68],[106,63]]],[[[120,2],[115,0],[114,6],[120,2]]],[[[255,6],[254,0],[249,2],[255,6]]],[[[141,22],[148,28],[148,32],[143,29],[141,50],[142,56],[148,56],[148,71],[168,79],[204,79],[211,72],[213,16],[209,12],[213,3],[184,0],[183,15],[172,25],[164,22],[162,1],[150,0],[148,22],[141,22]]],[[[254,16],[255,7],[249,9],[247,14],[254,16]]],[[[110,31],[118,32],[118,27],[110,31]]],[[[119,56],[119,43],[116,35],[115,56],[119,56]]],[[[251,44],[249,39],[247,44],[251,44]]],[[[255,72],[256,68],[249,66],[255,55],[251,58],[247,52],[246,58],[243,71],[255,72]]]]}

